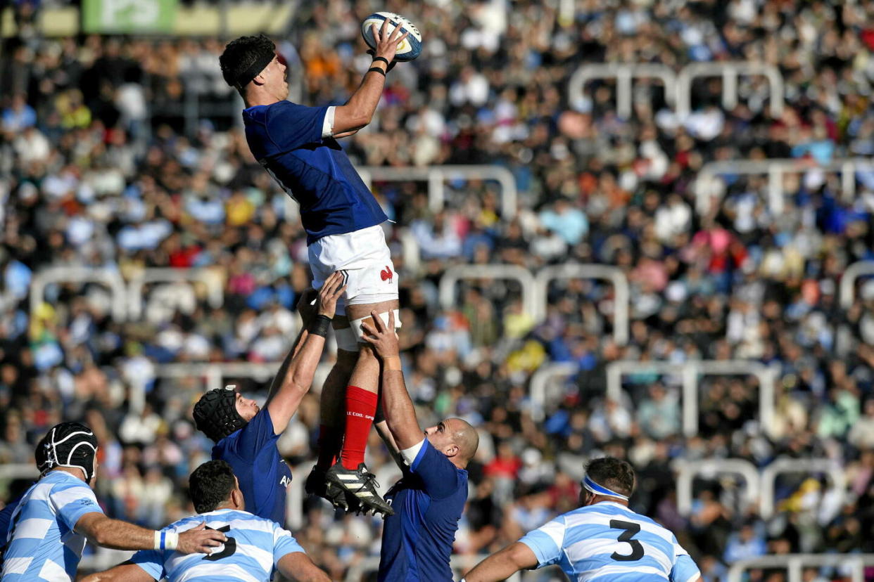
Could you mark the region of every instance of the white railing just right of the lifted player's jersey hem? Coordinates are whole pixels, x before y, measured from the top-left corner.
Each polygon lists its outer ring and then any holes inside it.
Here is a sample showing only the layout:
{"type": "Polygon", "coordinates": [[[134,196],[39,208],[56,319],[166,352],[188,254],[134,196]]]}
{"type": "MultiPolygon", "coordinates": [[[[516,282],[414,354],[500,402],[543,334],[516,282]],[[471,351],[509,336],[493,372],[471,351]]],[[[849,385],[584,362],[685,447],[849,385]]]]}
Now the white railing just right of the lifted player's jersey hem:
{"type": "Polygon", "coordinates": [[[502,166],[426,166],[424,168],[389,168],[382,166],[361,166],[356,168],[358,175],[371,187],[373,181],[427,181],[428,205],[440,211],[446,205],[446,181],[461,178],[464,180],[493,180],[501,185],[501,214],[507,219],[516,216],[516,179],[510,170],[502,166]]]}

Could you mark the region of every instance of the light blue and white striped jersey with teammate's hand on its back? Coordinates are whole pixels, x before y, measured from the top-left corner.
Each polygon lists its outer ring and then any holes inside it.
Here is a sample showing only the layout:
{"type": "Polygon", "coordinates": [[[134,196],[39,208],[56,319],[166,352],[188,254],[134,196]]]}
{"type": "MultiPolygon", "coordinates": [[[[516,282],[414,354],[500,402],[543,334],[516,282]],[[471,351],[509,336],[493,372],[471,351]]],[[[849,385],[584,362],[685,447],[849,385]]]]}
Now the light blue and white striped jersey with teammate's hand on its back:
{"type": "Polygon", "coordinates": [[[227,542],[212,554],[180,554],[176,551],[137,551],[131,562],[153,579],[170,582],[268,582],[279,560],[303,551],[291,532],[280,524],[248,511],[215,510],[184,517],[163,531],[182,532],[199,524],[224,531],[227,542]]]}

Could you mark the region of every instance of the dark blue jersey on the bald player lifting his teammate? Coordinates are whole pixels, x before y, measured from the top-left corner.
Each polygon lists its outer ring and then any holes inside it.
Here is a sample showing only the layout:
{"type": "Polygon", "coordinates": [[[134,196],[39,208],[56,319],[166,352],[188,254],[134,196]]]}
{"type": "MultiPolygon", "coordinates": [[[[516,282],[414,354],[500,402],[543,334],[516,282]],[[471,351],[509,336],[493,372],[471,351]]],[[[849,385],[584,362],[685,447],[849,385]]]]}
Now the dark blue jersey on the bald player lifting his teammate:
{"type": "Polygon", "coordinates": [[[468,472],[425,440],[403,478],[385,496],[379,582],[452,582],[449,557],[468,500],[468,472]]]}

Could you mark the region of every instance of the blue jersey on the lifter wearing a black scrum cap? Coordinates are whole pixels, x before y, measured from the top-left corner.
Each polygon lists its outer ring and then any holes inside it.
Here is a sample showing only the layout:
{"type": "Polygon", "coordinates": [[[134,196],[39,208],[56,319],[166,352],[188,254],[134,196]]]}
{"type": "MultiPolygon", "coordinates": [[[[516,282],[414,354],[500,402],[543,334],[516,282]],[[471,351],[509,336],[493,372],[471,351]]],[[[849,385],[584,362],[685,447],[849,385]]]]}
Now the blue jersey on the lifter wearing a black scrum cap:
{"type": "Polygon", "coordinates": [[[246,510],[285,524],[291,469],[276,448],[278,440],[270,413],[263,407],[245,427],[217,442],[212,448],[212,458],[231,465],[246,500],[246,510]]]}

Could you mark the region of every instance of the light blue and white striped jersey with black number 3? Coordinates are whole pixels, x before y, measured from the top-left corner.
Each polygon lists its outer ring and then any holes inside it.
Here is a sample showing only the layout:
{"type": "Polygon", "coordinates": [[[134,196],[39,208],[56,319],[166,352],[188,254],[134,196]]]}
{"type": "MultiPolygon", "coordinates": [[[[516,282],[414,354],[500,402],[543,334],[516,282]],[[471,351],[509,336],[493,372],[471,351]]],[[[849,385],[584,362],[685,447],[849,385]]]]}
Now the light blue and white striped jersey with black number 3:
{"type": "Polygon", "coordinates": [[[557,564],[573,582],[690,582],[699,575],[674,534],[619,503],[568,511],[519,541],[534,551],[538,568],[557,564]]]}

